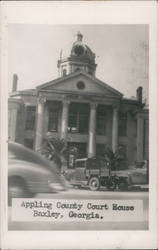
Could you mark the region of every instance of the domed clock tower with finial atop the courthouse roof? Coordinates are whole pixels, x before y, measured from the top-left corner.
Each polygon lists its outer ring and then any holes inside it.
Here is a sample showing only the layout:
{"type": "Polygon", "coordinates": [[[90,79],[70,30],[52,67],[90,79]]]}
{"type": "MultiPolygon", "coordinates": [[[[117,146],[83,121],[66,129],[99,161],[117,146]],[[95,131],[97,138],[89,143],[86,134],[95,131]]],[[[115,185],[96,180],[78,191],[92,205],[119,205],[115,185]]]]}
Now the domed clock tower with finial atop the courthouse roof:
{"type": "Polygon", "coordinates": [[[76,71],[85,71],[90,75],[95,75],[96,64],[95,54],[83,43],[83,35],[78,32],[77,39],[73,43],[70,56],[67,58],[60,57],[58,60],[59,76],[66,76],[76,71]]]}

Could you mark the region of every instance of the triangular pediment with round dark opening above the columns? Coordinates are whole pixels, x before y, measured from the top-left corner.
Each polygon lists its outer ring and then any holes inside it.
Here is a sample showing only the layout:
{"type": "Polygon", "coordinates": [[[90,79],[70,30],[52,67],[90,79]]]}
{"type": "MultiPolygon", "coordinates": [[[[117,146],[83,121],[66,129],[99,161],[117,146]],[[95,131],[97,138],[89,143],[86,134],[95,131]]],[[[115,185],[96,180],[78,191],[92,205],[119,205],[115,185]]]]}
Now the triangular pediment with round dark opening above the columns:
{"type": "Polygon", "coordinates": [[[42,84],[37,89],[46,91],[61,91],[75,93],[89,93],[121,97],[122,94],[99,79],[86,73],[75,73],[54,81],[42,84]]]}

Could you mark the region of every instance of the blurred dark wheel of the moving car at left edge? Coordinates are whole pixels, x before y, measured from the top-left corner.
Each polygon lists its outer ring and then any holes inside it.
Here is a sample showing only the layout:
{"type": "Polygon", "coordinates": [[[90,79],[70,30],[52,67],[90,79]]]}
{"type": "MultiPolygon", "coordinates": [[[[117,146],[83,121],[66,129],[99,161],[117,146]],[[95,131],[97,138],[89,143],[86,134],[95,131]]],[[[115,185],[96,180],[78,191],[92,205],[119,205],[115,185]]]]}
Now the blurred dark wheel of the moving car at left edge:
{"type": "Polygon", "coordinates": [[[25,181],[21,177],[10,177],[8,179],[8,205],[11,205],[12,198],[31,197],[25,181]]]}

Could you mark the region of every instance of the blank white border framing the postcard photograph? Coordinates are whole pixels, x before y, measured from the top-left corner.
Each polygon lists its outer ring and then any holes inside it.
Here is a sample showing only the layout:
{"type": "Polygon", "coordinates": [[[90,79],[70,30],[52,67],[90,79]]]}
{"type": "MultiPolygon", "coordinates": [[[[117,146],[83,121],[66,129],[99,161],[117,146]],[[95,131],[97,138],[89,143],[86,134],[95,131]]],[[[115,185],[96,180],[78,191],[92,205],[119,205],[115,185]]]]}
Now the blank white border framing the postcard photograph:
{"type": "Polygon", "coordinates": [[[1,3],[1,219],[2,249],[151,249],[157,247],[157,2],[156,1],[74,1],[1,3]],[[149,231],[7,231],[7,24],[149,24],[149,106],[150,106],[150,211],[149,231]],[[2,164],[3,163],[3,164],[2,164]],[[152,170],[152,171],[151,171],[152,170]],[[2,190],[2,189],[1,189],[2,190]]]}

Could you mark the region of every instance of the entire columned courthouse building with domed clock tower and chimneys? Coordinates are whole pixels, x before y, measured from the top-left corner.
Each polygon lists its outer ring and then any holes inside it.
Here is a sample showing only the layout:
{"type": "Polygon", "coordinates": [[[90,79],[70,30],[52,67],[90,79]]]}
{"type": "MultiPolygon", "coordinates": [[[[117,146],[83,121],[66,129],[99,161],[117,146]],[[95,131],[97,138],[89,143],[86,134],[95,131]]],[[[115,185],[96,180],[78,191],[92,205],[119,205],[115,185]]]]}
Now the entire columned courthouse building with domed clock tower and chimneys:
{"type": "Polygon", "coordinates": [[[14,75],[9,139],[38,150],[49,134],[76,146],[79,157],[101,155],[107,144],[113,151],[119,145],[124,148],[127,165],[148,159],[148,110],[142,103],[142,87],[135,98],[124,98],[96,78],[95,54],[81,33],[57,67],[58,78],[36,89],[18,91],[14,75]]]}

